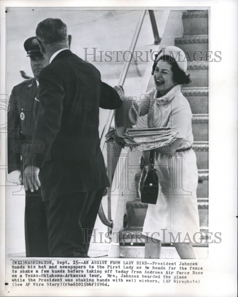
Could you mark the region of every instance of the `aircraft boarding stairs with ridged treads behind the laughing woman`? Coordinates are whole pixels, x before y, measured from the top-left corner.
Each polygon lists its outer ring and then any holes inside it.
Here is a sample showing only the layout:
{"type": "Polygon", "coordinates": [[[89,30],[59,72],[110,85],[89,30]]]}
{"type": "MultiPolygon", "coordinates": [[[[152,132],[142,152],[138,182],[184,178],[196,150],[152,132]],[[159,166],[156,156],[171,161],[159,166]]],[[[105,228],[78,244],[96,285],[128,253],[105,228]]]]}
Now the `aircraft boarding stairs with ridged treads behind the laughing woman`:
{"type": "MultiPolygon", "coordinates": [[[[204,51],[208,50],[208,11],[190,10],[180,14],[184,35],[176,37],[174,45],[187,52],[191,58],[187,73],[190,73],[192,81],[183,85],[181,90],[193,113],[193,150],[198,167],[198,212],[200,231],[204,233],[208,231],[208,61],[204,55],[204,51]],[[194,56],[194,52],[198,50],[202,51],[202,54],[197,53],[194,56]],[[202,58],[198,58],[200,56],[202,58]],[[197,61],[194,61],[195,59],[197,61]]],[[[150,90],[153,84],[151,75],[146,91],[150,90]]],[[[141,231],[148,205],[141,203],[138,196],[142,152],[130,145],[122,149],[120,143],[112,139],[106,143],[106,149],[108,176],[112,181],[112,186],[108,189],[108,199],[111,199],[111,204],[117,203],[113,226],[109,229],[112,231],[112,242],[108,256],[144,258],[145,236],[141,231]]],[[[194,244],[199,258],[207,257],[208,244],[205,238],[204,235],[203,243],[194,244]]],[[[171,244],[162,244],[161,258],[179,256],[171,244]]]]}

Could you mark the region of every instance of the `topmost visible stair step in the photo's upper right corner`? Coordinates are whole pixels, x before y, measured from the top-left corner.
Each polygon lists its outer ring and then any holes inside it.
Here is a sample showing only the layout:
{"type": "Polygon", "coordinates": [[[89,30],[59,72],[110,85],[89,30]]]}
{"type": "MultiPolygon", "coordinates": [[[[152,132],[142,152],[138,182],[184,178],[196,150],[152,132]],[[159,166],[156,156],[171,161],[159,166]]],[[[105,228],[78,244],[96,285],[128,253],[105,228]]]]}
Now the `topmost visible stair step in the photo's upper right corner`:
{"type": "Polygon", "coordinates": [[[188,10],[182,12],[185,35],[208,34],[208,10],[188,10]]]}

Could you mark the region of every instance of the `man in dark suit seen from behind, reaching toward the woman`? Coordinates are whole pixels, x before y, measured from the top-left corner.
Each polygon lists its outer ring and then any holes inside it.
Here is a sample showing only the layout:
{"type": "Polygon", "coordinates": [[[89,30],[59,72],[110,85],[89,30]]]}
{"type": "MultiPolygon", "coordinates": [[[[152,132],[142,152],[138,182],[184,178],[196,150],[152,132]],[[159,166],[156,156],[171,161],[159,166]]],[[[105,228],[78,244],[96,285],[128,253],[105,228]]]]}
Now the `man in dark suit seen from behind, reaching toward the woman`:
{"type": "MultiPolygon", "coordinates": [[[[99,107],[120,108],[118,93],[100,72],[70,49],[71,36],[59,19],[36,29],[49,65],[42,69],[33,140],[44,143],[35,166],[25,170],[25,186],[40,186],[47,208],[51,257],[87,257],[83,229],[92,229],[108,177],[100,150],[99,107]]],[[[88,233],[89,234],[89,233],[88,233]]]]}

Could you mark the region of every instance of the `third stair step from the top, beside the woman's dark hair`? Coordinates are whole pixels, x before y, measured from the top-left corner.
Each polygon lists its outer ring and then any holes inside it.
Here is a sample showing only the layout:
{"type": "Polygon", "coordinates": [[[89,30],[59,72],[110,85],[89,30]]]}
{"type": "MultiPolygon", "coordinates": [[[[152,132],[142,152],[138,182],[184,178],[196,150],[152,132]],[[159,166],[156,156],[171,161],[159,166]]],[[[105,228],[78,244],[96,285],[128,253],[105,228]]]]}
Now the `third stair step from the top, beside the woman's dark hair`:
{"type": "Polygon", "coordinates": [[[188,62],[187,73],[191,82],[182,87],[208,87],[208,62],[188,62]]]}

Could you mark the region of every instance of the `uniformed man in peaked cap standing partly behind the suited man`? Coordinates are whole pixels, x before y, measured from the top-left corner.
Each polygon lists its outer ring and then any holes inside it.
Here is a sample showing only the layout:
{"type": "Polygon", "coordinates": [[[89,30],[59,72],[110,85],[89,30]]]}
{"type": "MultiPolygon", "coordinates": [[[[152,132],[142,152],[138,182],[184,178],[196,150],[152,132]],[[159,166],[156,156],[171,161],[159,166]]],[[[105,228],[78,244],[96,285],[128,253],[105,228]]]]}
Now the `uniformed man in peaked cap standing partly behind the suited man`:
{"type": "MultiPolygon", "coordinates": [[[[34,103],[40,71],[48,63],[40,52],[36,37],[24,42],[30,58],[34,78],[24,80],[14,86],[8,108],[8,173],[9,180],[21,184],[21,155],[27,153],[34,130],[34,103]],[[21,152],[19,145],[21,144],[21,152]]],[[[26,189],[25,242],[27,257],[48,257],[48,234],[45,202],[40,189],[31,192],[26,189]]]]}

